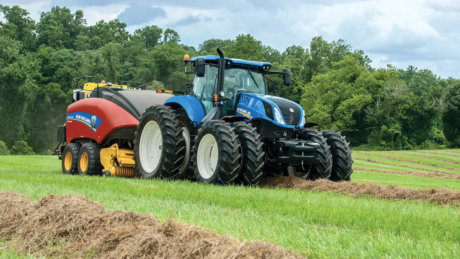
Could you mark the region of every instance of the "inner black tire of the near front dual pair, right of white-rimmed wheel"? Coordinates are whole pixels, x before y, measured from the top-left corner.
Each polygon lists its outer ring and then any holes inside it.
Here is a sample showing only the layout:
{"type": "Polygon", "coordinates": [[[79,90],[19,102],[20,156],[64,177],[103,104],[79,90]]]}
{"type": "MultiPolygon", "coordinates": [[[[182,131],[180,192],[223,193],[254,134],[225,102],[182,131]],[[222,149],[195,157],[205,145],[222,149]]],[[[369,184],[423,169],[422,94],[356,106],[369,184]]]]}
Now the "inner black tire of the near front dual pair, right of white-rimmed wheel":
{"type": "Polygon", "coordinates": [[[235,127],[235,133],[238,135],[240,143],[240,170],[238,178],[245,186],[255,186],[259,183],[262,176],[262,167],[264,166],[265,152],[262,148],[264,143],[260,140],[260,134],[252,124],[245,122],[234,122],[230,124],[235,127]]]}

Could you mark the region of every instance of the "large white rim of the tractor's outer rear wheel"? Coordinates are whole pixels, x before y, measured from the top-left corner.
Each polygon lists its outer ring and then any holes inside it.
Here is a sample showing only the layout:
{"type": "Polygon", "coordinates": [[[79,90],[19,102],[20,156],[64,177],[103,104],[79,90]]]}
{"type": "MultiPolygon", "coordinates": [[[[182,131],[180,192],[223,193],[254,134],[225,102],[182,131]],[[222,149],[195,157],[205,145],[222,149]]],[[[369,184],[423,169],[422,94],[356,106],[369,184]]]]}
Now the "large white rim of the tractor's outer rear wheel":
{"type": "Polygon", "coordinates": [[[160,126],[153,120],[145,124],[139,142],[139,159],[142,169],[150,174],[160,164],[163,149],[160,126]]]}

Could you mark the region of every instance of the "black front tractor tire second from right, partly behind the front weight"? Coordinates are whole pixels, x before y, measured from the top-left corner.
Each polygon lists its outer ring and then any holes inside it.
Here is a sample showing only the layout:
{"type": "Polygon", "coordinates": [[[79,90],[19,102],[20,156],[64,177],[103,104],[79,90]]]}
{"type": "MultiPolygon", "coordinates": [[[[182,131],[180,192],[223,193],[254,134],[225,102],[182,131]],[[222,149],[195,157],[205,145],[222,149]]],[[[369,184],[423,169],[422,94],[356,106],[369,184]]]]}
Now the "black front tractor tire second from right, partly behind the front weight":
{"type": "Polygon", "coordinates": [[[313,141],[320,144],[317,150],[317,157],[320,159],[318,165],[304,165],[305,171],[301,168],[296,168],[297,176],[302,179],[316,180],[319,178],[329,179],[332,171],[332,154],[327,140],[321,132],[310,128],[302,129],[299,132],[299,139],[313,141]]]}

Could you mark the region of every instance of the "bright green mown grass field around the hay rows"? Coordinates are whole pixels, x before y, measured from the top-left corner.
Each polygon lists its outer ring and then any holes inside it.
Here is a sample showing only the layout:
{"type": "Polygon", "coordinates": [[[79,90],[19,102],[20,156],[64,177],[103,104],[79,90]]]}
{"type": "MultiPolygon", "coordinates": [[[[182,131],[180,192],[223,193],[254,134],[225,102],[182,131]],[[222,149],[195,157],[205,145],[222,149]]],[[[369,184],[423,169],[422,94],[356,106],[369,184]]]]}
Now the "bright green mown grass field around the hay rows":
{"type": "MultiPolygon", "coordinates": [[[[453,163],[460,161],[460,153],[455,152],[459,150],[355,152],[355,158],[390,165],[364,160],[355,160],[353,165],[460,174],[460,164],[453,163]]],[[[55,156],[0,156],[0,190],[23,193],[33,200],[47,194],[81,194],[110,210],[151,213],[162,220],[173,217],[222,235],[270,241],[309,258],[460,258],[460,210],[455,206],[280,188],[70,176],[63,175],[60,162],[55,156]]],[[[460,180],[452,179],[365,170],[355,170],[351,178],[460,190],[460,180]]],[[[0,257],[11,258],[12,254],[0,250],[0,257]]]]}

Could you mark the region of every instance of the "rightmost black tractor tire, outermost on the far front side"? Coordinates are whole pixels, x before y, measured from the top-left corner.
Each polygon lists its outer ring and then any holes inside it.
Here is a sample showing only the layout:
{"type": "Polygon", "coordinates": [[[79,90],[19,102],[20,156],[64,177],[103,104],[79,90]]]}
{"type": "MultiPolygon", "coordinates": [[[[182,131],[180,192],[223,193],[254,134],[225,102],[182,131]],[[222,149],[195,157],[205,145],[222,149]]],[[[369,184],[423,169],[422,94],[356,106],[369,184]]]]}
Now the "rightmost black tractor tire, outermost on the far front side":
{"type": "Polygon", "coordinates": [[[345,136],[340,135],[334,130],[322,130],[324,137],[331,146],[332,153],[332,174],[331,180],[350,181],[353,168],[353,159],[351,159],[350,142],[345,140],[345,136]]]}

